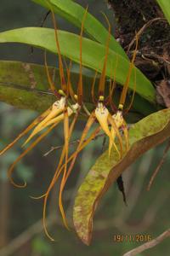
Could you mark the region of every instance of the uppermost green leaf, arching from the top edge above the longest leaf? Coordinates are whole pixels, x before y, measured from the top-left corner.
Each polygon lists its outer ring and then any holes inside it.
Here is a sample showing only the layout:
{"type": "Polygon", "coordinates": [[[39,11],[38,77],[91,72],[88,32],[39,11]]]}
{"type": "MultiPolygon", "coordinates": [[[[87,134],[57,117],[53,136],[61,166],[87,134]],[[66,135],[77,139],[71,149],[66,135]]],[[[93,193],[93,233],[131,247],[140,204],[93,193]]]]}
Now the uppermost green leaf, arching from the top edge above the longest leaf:
{"type": "MultiPolygon", "coordinates": [[[[35,3],[41,4],[43,7],[49,9],[49,5],[47,1],[44,0],[32,0],[35,3]]],[[[62,17],[65,20],[70,21],[75,26],[81,27],[82,18],[85,12],[85,9],[82,8],[78,3],[74,3],[71,0],[48,0],[51,4],[54,12],[62,17]]],[[[104,44],[108,37],[108,31],[105,29],[99,20],[96,20],[93,15],[89,13],[86,16],[86,20],[84,23],[84,31],[94,40],[99,42],[100,44],[104,44]]],[[[115,50],[119,55],[122,55],[127,59],[127,55],[122,49],[121,45],[116,42],[116,39],[111,36],[110,48],[115,50]]]]}

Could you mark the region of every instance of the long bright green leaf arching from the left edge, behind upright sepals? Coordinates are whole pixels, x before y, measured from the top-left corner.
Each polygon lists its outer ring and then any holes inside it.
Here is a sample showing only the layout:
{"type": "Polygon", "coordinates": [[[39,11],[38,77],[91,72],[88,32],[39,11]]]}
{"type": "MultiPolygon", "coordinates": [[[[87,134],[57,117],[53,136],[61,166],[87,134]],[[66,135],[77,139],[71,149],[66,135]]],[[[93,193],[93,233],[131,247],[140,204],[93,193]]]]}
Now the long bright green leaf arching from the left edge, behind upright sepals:
{"type": "MultiPolygon", "coordinates": [[[[48,28],[25,27],[14,29],[7,32],[0,33],[0,43],[23,43],[31,44],[43,49],[47,49],[53,53],[57,53],[56,44],[54,40],[54,30],[48,28]],[[45,38],[45,39],[44,39],[45,38]]],[[[59,45],[62,55],[70,58],[72,61],[79,62],[79,36],[71,32],[59,31],[59,45]]],[[[105,46],[96,43],[88,38],[82,38],[82,64],[85,67],[90,67],[94,70],[102,71],[102,63],[105,57],[105,46]]],[[[114,67],[116,65],[117,54],[110,49],[108,55],[108,65],[106,74],[111,77],[114,67]]],[[[124,84],[129,67],[129,61],[118,55],[118,66],[116,68],[116,81],[119,84],[124,84]]],[[[156,92],[146,79],[143,73],[135,67],[136,70],[136,92],[148,102],[155,104],[156,92]]],[[[131,76],[129,88],[133,90],[134,73],[131,76]]]]}

